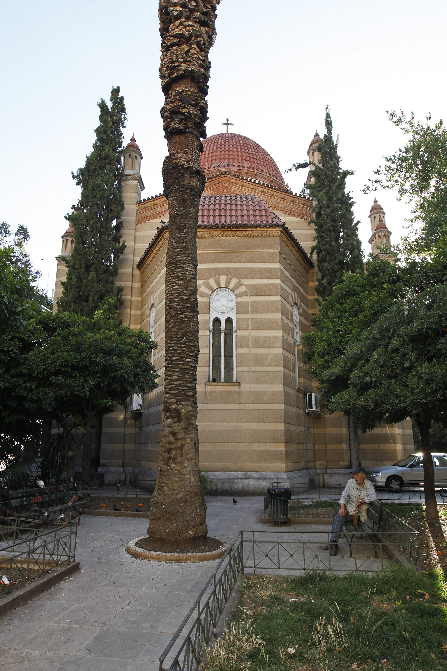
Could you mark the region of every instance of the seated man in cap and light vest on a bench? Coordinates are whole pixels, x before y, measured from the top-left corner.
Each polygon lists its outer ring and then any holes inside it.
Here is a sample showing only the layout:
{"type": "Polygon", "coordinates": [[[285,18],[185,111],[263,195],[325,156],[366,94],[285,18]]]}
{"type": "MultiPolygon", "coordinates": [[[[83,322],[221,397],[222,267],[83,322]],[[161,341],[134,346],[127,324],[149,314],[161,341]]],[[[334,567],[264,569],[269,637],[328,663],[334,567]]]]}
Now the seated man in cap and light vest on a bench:
{"type": "Polygon", "coordinates": [[[323,550],[329,550],[332,557],[338,552],[338,539],[345,522],[353,521],[353,513],[359,513],[360,521],[366,522],[367,510],[371,501],[377,501],[377,496],[372,482],[367,480],[367,472],[363,466],[356,466],[353,470],[354,479],[348,480],[344,492],[340,497],[340,511],[335,515],[332,522],[332,534],[329,545],[323,550]]]}

